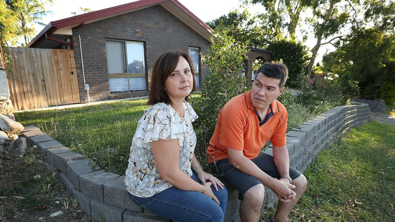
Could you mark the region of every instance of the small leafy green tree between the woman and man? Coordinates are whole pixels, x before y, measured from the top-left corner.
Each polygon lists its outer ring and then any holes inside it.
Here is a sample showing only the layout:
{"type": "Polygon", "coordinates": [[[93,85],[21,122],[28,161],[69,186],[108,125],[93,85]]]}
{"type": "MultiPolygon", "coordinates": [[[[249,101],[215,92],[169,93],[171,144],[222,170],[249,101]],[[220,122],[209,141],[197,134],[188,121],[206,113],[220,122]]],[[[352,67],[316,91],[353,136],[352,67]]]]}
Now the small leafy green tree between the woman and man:
{"type": "MultiPolygon", "coordinates": [[[[201,99],[196,104],[198,123],[205,132],[207,139],[214,132],[217,117],[231,98],[247,90],[247,79],[241,76],[243,60],[247,43],[236,45],[235,39],[228,36],[228,31],[220,28],[211,38],[207,54],[201,54],[203,64],[209,68],[209,73],[200,87],[201,99]]],[[[198,125],[196,125],[198,126],[198,125]]]]}

